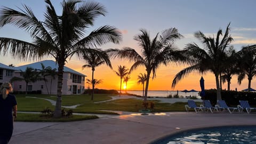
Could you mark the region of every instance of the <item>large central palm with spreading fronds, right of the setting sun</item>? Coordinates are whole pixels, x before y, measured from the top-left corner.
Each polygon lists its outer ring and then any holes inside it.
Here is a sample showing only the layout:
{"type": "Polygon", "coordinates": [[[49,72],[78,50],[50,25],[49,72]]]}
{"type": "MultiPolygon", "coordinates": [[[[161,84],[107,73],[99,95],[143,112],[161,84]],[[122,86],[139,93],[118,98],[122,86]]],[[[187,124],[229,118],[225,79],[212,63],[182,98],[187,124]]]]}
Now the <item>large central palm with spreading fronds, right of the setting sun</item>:
{"type": "Polygon", "coordinates": [[[153,73],[152,78],[154,78],[156,77],[156,70],[161,64],[167,65],[171,61],[182,60],[183,56],[174,46],[174,41],[181,38],[182,35],[178,33],[178,29],[170,28],[164,30],[161,35],[157,34],[150,40],[147,30],[141,29],[140,31],[142,34],[135,36],[134,40],[139,42],[141,54],[130,47],[124,47],[122,50],[110,49],[108,51],[114,58],[118,57],[134,62],[130,72],[139,66],[145,66],[147,80],[144,101],[147,101],[150,74],[153,73]]]}

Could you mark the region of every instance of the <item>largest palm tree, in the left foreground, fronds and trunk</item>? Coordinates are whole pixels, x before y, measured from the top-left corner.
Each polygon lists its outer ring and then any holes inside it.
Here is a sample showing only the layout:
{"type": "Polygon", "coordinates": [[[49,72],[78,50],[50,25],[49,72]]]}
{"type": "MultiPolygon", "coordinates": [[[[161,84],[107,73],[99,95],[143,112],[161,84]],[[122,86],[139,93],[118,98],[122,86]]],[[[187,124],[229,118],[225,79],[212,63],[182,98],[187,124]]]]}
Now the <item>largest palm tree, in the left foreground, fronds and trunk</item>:
{"type": "Polygon", "coordinates": [[[58,63],[57,101],[54,117],[61,116],[63,67],[68,58],[82,57],[89,47],[98,47],[106,43],[119,43],[121,32],[112,26],[102,26],[84,36],[86,28],[93,26],[100,15],[105,16],[106,8],[97,2],[64,0],[62,15],[57,15],[50,0],[45,0],[44,21],[39,21],[27,5],[20,11],[3,7],[0,10],[0,27],[11,24],[24,29],[33,42],[13,38],[0,38],[0,52],[10,52],[19,59],[41,59],[51,56],[58,63]],[[9,50],[10,49],[10,50],[9,50]],[[8,51],[9,50],[9,51],[8,51]]]}

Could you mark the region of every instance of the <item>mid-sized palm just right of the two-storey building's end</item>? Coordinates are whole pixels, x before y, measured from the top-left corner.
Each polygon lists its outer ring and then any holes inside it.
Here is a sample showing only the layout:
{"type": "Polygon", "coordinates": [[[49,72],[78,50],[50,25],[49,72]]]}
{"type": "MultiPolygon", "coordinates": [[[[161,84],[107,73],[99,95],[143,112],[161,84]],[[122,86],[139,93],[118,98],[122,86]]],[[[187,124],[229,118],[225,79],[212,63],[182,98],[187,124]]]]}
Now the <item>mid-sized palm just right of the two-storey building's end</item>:
{"type": "MultiPolygon", "coordinates": [[[[92,49],[91,52],[85,53],[85,55],[83,55],[83,58],[88,64],[83,65],[82,69],[92,68],[92,81],[94,79],[93,76],[94,76],[95,67],[98,67],[106,63],[107,66],[109,66],[112,69],[108,54],[105,51],[101,51],[101,50],[95,51],[92,49]]],[[[91,100],[93,100],[93,95],[94,95],[94,83],[92,83],[91,100]]]]}

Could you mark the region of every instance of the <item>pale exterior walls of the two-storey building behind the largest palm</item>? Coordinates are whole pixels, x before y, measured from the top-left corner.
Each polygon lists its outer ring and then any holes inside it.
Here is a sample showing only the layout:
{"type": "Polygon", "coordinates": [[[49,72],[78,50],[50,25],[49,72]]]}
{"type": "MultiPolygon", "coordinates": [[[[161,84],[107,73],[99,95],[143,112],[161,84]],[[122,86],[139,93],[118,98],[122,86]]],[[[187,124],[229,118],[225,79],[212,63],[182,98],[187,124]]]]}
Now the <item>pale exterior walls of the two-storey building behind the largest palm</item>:
{"type": "MultiPolygon", "coordinates": [[[[20,72],[16,71],[15,76],[20,77],[20,72]]],[[[83,77],[83,76],[82,76],[83,77]]],[[[58,82],[58,76],[55,76],[55,79],[52,78],[52,85],[51,85],[51,76],[46,77],[47,82],[45,84],[44,81],[37,81],[35,83],[28,83],[28,85],[32,85],[32,90],[31,91],[42,91],[42,94],[48,94],[47,89],[51,94],[57,94],[57,82],[58,82]],[[46,88],[47,85],[47,88],[46,88]]],[[[84,80],[84,79],[82,79],[84,80]]],[[[16,81],[13,82],[13,87],[14,91],[26,91],[26,82],[25,81],[16,81]]],[[[64,95],[69,95],[73,94],[73,86],[77,85],[81,87],[81,93],[76,93],[75,94],[82,94],[84,92],[84,81],[81,81],[81,83],[73,83],[73,79],[70,78],[70,73],[63,73],[63,85],[62,85],[62,94],[64,95]],[[71,86],[71,91],[69,88],[71,86]]]]}

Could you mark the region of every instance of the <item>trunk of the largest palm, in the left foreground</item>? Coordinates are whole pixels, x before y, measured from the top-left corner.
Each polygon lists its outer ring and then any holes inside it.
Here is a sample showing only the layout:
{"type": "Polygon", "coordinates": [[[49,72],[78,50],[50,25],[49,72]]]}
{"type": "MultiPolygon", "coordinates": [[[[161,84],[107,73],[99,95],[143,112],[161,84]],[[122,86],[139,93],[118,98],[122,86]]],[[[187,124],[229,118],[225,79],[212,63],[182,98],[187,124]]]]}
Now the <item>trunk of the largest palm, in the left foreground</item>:
{"type": "Polygon", "coordinates": [[[62,84],[63,84],[63,68],[65,61],[58,61],[58,84],[57,84],[57,100],[54,110],[54,117],[61,117],[61,101],[62,101],[62,84]]]}

